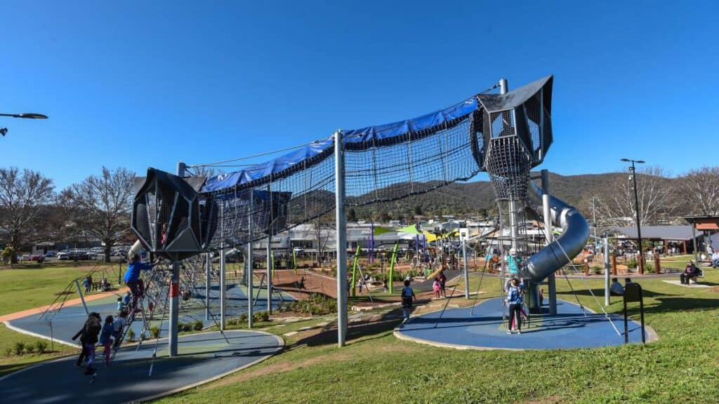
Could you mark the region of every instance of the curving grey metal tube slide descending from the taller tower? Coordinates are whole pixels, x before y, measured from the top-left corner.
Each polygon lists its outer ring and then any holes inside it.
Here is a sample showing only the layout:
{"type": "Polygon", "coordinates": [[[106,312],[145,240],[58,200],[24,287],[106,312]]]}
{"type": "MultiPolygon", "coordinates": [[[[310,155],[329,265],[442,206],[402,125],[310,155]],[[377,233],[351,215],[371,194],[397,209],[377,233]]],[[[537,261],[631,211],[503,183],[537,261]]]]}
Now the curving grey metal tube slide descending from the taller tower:
{"type": "MultiPolygon", "coordinates": [[[[532,180],[529,181],[527,188],[529,201],[534,206],[536,213],[541,216],[542,188],[532,180]]],[[[534,282],[541,282],[554,271],[567,265],[569,259],[577,257],[582,252],[589,239],[589,224],[574,206],[570,206],[554,196],[549,196],[549,206],[551,207],[551,223],[562,228],[562,235],[540,249],[527,261],[527,269],[534,282]]]]}

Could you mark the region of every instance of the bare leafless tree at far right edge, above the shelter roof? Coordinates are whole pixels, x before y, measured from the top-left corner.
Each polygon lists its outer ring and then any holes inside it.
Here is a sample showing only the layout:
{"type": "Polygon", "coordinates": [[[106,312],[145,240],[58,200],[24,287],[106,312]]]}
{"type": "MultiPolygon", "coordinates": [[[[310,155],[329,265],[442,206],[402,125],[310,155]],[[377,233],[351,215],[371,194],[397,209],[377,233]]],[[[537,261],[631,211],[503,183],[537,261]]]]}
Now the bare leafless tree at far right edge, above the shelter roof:
{"type": "Polygon", "coordinates": [[[678,198],[690,214],[719,214],[719,166],[701,167],[677,178],[678,198]]]}

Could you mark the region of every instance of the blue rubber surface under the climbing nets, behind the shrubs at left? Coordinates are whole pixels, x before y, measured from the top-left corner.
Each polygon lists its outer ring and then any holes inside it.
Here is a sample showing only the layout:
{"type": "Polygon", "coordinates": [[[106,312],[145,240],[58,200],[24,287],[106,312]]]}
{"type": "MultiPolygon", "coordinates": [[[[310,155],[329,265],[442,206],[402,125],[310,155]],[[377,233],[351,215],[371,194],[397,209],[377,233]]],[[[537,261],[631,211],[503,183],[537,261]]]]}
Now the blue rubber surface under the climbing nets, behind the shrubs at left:
{"type": "MultiPolygon", "coordinates": [[[[227,290],[227,316],[239,316],[241,313],[247,313],[247,293],[244,287],[240,285],[228,285],[227,290]]],[[[204,292],[204,290],[203,290],[204,292]]],[[[257,304],[254,306],[255,311],[266,311],[267,310],[267,294],[265,290],[262,290],[260,297],[257,299],[257,304]]],[[[287,293],[283,294],[284,300],[293,300],[287,293]]],[[[219,321],[219,299],[216,295],[210,295],[210,308],[212,311],[213,318],[205,318],[204,303],[199,300],[204,300],[204,295],[196,295],[196,298],[192,303],[192,306],[188,309],[183,307],[186,302],[180,299],[180,322],[188,323],[195,320],[203,322],[203,326],[211,326],[214,321],[219,321]]],[[[278,293],[273,293],[273,308],[277,308],[280,303],[278,293]]],[[[168,303],[169,305],[169,303],[168,303]]],[[[93,300],[87,303],[88,311],[96,311],[100,313],[102,320],[104,321],[105,316],[111,315],[116,316],[117,308],[117,296],[110,296],[107,298],[101,298],[99,300],[93,300]]],[[[146,311],[147,316],[150,316],[149,311],[146,311]]],[[[78,303],[73,306],[65,306],[58,313],[52,316],[52,321],[40,320],[42,313],[32,314],[22,318],[17,318],[12,321],[7,321],[10,326],[24,331],[29,331],[33,334],[45,336],[47,338],[59,339],[61,341],[72,343],[72,337],[77,333],[85,323],[87,315],[82,303],[78,303]]],[[[152,313],[152,318],[148,318],[151,322],[150,326],[160,326],[160,319],[162,318],[162,308],[155,308],[152,313]]],[[[160,330],[160,336],[168,335],[168,321],[170,318],[169,308],[165,311],[164,321],[162,321],[162,327],[160,330]]],[[[135,316],[135,320],[131,326],[135,335],[139,336],[143,329],[142,314],[138,313],[135,316]]],[[[148,327],[149,329],[150,327],[148,327]]]]}

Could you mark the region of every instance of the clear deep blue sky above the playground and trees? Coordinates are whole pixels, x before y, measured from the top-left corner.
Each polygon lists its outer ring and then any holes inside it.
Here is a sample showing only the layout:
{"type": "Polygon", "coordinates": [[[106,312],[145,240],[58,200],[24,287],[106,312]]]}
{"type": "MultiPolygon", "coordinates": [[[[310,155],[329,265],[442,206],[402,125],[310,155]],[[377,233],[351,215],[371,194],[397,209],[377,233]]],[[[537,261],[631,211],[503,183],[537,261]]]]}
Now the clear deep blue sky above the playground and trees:
{"type": "Polygon", "coordinates": [[[0,166],[174,171],[554,74],[544,167],[679,174],[719,153],[715,4],[6,1],[0,112],[50,119],[0,119],[0,166]]]}

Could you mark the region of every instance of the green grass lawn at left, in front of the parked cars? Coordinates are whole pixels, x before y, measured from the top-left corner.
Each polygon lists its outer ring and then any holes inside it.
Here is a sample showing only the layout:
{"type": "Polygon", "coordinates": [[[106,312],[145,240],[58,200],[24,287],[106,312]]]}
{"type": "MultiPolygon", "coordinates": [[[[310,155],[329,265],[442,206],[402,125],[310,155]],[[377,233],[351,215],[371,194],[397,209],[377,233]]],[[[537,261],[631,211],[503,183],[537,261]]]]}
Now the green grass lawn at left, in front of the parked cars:
{"type": "MultiPolygon", "coordinates": [[[[99,280],[104,273],[109,281],[117,284],[117,264],[99,264],[106,271],[99,271],[95,276],[99,280]],[[98,277],[99,276],[99,277],[98,277]]],[[[0,269],[0,316],[45,306],[57,297],[76,277],[83,277],[96,265],[18,265],[14,269],[0,269]]],[[[81,284],[82,285],[82,284],[81,284]]],[[[77,290],[69,298],[78,298],[77,290]]]]}

